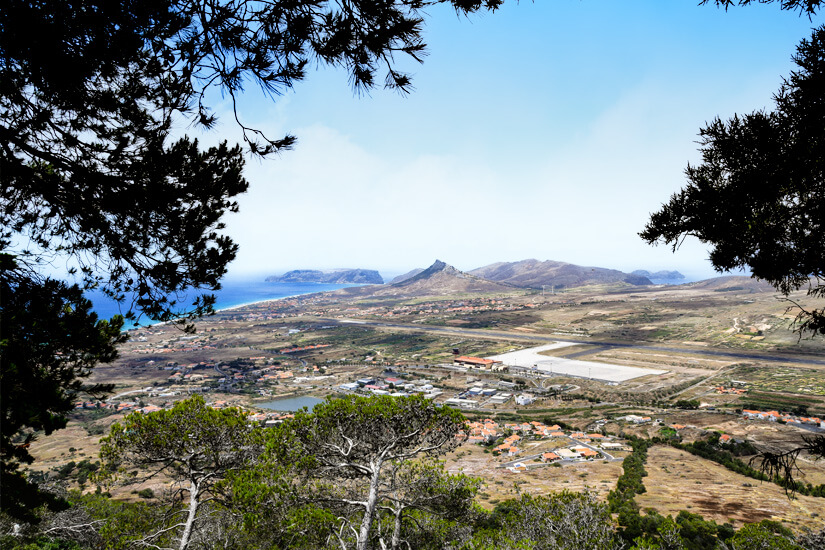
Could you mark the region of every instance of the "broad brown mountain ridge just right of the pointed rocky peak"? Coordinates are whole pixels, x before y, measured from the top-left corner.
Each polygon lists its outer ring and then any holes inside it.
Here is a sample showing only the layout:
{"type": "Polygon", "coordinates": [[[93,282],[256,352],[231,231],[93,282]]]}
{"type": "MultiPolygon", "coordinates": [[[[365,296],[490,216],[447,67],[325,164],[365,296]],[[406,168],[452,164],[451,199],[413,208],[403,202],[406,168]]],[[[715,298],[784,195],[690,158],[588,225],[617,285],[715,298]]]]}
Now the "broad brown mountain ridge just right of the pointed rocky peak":
{"type": "Polygon", "coordinates": [[[540,288],[541,286],[569,288],[604,283],[653,284],[647,277],[624,273],[616,269],[584,267],[551,260],[498,262],[474,269],[470,271],[470,274],[490,281],[525,288],[540,288]]]}

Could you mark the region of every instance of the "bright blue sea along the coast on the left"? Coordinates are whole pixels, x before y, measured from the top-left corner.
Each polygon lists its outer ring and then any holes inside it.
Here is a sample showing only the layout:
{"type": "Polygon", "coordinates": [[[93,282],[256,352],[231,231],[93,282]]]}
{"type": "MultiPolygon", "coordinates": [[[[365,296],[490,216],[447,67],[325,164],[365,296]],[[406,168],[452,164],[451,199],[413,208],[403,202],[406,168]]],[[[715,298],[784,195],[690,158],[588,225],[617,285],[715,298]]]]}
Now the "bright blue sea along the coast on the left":
{"type": "MultiPolygon", "coordinates": [[[[320,283],[268,283],[263,280],[234,279],[222,282],[222,288],[213,292],[215,294],[215,309],[227,309],[230,307],[261,302],[264,300],[275,300],[277,298],[287,298],[290,296],[300,296],[302,294],[312,294],[315,292],[326,292],[328,290],[338,290],[349,286],[358,285],[329,285],[320,283]]],[[[194,297],[195,294],[193,293],[194,297]]],[[[114,300],[107,298],[99,291],[86,292],[86,297],[92,301],[92,309],[101,319],[109,319],[113,315],[126,313],[128,307],[120,305],[114,300]]],[[[187,304],[192,300],[179,299],[179,303],[187,304]]],[[[141,325],[152,324],[149,319],[141,319],[141,325]]],[[[126,327],[132,328],[132,327],[126,327]]]]}

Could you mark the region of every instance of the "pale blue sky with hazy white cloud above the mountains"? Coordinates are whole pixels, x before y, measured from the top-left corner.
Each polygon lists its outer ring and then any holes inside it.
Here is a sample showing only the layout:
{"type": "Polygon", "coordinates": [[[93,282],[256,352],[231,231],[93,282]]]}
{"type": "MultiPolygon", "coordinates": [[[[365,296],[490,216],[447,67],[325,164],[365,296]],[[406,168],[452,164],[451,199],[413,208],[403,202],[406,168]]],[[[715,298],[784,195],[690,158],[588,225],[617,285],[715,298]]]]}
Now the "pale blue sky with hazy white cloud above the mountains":
{"type": "MultiPolygon", "coordinates": [[[[770,109],[823,17],[697,3],[436,6],[424,63],[399,60],[409,95],[359,96],[325,66],[274,100],[248,90],[243,121],[298,142],[248,161],[250,189],[226,219],[240,245],[229,276],[527,258],[713,276],[702,243],[674,253],[638,233],[685,184],[699,129],[770,109]]],[[[237,139],[228,105],[214,107],[221,124],[201,139],[237,139]]]]}

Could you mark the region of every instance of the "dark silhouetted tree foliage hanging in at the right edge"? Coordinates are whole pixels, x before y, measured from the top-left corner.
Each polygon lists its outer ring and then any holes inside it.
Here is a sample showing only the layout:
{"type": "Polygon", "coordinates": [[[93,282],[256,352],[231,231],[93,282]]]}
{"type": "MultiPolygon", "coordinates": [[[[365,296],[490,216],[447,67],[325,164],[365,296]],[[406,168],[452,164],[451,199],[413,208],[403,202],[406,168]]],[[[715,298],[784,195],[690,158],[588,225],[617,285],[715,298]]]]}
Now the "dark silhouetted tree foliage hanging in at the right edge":
{"type": "MultiPolygon", "coordinates": [[[[774,111],[715,119],[700,132],[702,163],[651,215],[641,236],[712,246],[719,271],[749,268],[783,294],[825,298],[825,27],[803,40],[774,111]]],[[[801,333],[825,334],[825,308],[798,316],[801,333]]]]}

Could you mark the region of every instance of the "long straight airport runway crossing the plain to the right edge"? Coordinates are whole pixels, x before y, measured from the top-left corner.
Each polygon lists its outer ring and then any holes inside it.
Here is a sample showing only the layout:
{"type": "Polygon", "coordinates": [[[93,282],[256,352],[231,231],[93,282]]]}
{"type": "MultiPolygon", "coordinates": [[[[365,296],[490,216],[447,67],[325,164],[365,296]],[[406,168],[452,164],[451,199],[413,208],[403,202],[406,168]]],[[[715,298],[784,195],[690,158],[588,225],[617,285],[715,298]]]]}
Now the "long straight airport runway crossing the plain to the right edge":
{"type": "MultiPolygon", "coordinates": [[[[400,323],[389,323],[386,321],[374,321],[367,319],[321,319],[324,322],[336,324],[357,323],[359,325],[366,325],[377,328],[389,328],[397,330],[411,330],[416,332],[428,332],[433,334],[446,334],[450,336],[464,336],[471,338],[506,338],[508,340],[522,340],[527,342],[569,342],[571,344],[586,344],[589,346],[597,346],[598,350],[615,348],[634,348],[649,351],[668,351],[674,353],[684,353],[690,355],[700,355],[706,357],[725,357],[732,359],[747,359],[749,361],[764,361],[766,363],[798,363],[802,365],[816,365],[825,367],[825,358],[812,357],[810,355],[778,355],[770,353],[754,353],[754,352],[739,352],[720,349],[708,348],[679,348],[671,346],[652,345],[650,343],[640,342],[621,342],[621,341],[604,341],[591,339],[574,339],[563,336],[540,335],[540,334],[524,334],[521,332],[506,332],[501,330],[486,330],[486,329],[461,329],[453,327],[438,327],[429,325],[405,325],[400,323]]],[[[581,354],[579,354],[581,355],[581,354]]]]}

